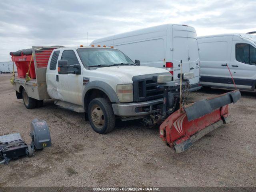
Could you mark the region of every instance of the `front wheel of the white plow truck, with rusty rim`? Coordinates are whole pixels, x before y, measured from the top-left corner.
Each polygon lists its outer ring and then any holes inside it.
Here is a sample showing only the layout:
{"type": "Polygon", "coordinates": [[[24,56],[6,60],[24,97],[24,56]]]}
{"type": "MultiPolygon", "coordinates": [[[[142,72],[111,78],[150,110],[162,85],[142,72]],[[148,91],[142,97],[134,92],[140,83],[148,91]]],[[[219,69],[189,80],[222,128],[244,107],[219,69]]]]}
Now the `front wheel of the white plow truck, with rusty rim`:
{"type": "Polygon", "coordinates": [[[87,111],[90,125],[95,132],[106,134],[114,129],[116,118],[107,99],[96,98],[91,100],[87,111]]]}

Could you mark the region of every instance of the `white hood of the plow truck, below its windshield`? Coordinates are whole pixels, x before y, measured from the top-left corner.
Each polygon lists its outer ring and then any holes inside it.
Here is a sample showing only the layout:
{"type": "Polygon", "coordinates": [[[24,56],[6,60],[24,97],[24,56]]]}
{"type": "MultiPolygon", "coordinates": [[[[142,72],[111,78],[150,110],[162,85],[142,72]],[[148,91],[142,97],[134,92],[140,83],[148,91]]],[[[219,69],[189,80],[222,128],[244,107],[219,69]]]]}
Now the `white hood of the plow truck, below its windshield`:
{"type": "Polygon", "coordinates": [[[118,76],[124,81],[124,84],[133,83],[132,78],[138,75],[169,73],[166,69],[147,66],[110,66],[98,68],[96,71],[118,76]]]}

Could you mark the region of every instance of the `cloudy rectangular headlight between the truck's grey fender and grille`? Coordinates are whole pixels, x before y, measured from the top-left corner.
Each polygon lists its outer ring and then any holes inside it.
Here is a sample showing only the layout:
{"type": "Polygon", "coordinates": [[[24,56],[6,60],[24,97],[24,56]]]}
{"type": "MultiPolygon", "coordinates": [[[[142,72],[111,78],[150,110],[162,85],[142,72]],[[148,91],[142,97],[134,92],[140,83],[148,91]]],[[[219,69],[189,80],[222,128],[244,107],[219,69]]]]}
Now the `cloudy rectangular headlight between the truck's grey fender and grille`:
{"type": "Polygon", "coordinates": [[[132,84],[117,85],[116,92],[120,102],[133,102],[132,84]]]}

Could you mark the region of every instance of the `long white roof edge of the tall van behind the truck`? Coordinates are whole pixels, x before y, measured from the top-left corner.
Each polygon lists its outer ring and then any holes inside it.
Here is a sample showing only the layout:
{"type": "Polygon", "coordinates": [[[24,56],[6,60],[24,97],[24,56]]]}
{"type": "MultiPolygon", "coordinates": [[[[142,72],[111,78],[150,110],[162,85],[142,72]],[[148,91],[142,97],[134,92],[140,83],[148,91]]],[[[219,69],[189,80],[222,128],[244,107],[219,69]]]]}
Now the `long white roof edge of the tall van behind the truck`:
{"type": "MultiPolygon", "coordinates": [[[[107,36],[104,38],[99,38],[97,40],[92,41],[91,44],[97,44],[97,42],[107,41],[107,40],[111,40],[113,38],[124,38],[126,36],[139,35],[139,34],[143,34],[145,32],[150,33],[150,32],[166,30],[168,28],[168,26],[171,27],[173,25],[187,26],[187,25],[182,25],[182,24],[163,24],[163,25],[158,25],[158,26],[152,26],[152,27],[148,27],[148,28],[142,28],[142,29],[138,29],[138,30],[125,32],[125,33],[115,34],[115,35],[107,36]]],[[[191,26],[187,26],[187,27],[193,28],[191,26]]]]}

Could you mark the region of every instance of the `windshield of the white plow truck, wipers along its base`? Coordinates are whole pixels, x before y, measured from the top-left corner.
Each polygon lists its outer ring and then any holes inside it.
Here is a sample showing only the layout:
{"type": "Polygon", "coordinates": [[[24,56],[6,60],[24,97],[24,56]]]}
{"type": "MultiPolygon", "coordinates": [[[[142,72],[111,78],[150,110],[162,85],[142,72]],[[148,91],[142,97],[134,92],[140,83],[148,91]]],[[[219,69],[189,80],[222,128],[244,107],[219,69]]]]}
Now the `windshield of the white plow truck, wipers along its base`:
{"type": "Polygon", "coordinates": [[[135,65],[120,50],[109,48],[79,48],[78,55],[84,66],[135,65]]]}

